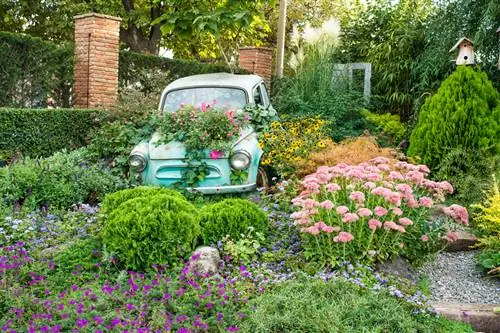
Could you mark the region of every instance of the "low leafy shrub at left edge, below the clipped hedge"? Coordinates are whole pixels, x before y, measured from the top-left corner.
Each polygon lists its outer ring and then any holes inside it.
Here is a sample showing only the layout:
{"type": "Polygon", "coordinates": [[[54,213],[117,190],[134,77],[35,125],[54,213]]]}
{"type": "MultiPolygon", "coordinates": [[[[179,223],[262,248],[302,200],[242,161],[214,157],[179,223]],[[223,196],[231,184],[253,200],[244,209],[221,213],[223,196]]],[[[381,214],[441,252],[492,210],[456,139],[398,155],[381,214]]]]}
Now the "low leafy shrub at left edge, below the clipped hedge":
{"type": "Polygon", "coordinates": [[[45,159],[24,159],[0,168],[0,196],[9,206],[33,210],[96,203],[122,185],[98,165],[87,163],[85,149],[60,152],[45,159]]]}

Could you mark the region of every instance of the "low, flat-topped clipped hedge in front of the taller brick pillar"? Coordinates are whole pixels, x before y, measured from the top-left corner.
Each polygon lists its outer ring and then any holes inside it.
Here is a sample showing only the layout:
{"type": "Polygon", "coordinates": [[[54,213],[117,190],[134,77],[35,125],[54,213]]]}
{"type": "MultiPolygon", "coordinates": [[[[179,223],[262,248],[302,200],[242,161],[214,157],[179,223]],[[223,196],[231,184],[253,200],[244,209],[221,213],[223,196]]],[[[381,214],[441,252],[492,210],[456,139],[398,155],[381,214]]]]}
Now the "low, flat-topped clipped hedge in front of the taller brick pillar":
{"type": "Polygon", "coordinates": [[[0,160],[18,152],[45,157],[82,147],[103,116],[91,109],[0,108],[0,160]]]}

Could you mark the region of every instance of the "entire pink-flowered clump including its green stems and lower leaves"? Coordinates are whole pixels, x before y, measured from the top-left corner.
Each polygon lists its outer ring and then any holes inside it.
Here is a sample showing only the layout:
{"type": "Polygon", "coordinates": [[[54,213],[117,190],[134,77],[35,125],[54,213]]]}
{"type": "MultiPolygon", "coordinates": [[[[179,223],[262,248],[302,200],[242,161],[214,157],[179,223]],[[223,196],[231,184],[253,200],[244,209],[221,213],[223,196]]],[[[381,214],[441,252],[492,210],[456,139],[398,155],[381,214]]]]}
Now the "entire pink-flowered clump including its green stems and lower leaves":
{"type": "Polygon", "coordinates": [[[322,166],[306,176],[303,191],[292,200],[299,207],[292,217],[306,258],[331,266],[393,255],[418,260],[437,251],[443,238],[453,240],[447,220],[467,225],[467,210],[443,206],[436,217],[453,187],[426,179],[428,173],[425,165],[379,157],[359,165],[322,166]]]}

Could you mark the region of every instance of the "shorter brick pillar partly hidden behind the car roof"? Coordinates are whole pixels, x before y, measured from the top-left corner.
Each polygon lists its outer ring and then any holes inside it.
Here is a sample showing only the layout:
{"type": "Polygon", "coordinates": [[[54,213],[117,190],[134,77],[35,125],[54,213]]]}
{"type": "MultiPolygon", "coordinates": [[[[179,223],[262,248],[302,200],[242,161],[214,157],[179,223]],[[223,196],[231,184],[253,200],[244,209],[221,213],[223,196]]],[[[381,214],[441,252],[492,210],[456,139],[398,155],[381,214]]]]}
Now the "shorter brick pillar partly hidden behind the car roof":
{"type": "Polygon", "coordinates": [[[273,50],[268,47],[244,47],[240,49],[239,65],[254,74],[261,76],[271,89],[271,73],[273,50]]]}

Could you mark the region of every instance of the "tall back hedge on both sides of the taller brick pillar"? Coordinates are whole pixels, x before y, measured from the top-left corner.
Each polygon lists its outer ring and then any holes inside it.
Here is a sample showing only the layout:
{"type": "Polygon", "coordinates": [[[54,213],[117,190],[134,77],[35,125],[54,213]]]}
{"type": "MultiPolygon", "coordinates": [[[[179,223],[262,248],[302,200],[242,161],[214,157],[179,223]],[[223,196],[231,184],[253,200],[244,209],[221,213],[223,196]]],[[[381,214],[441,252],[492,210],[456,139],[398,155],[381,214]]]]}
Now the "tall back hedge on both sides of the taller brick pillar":
{"type": "MultiPolygon", "coordinates": [[[[0,107],[42,107],[52,97],[72,104],[74,45],[54,44],[24,34],[0,32],[0,107]]],[[[229,72],[223,65],[120,51],[119,86],[159,93],[184,76],[229,72]]],[[[236,69],[236,73],[247,73],[236,69]]],[[[159,97],[159,96],[158,96],[159,97]]]]}

